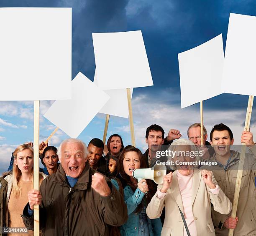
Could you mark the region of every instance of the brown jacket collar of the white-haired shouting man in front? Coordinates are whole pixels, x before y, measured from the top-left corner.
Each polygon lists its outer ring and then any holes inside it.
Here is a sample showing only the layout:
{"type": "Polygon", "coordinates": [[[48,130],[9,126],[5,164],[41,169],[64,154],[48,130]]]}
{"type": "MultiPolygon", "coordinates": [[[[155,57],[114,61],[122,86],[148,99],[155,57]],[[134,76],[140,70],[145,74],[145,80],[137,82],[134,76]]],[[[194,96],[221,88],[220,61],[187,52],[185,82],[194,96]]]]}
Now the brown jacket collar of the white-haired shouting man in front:
{"type": "MultiPolygon", "coordinates": [[[[88,161],[85,163],[84,170],[82,171],[81,175],[78,177],[77,183],[74,185],[73,188],[78,189],[78,190],[86,190],[89,180],[90,180],[90,164],[88,161]]],[[[59,165],[59,168],[53,178],[53,181],[55,183],[59,183],[61,185],[68,185],[67,178],[66,178],[66,173],[64,169],[62,168],[61,165],[59,165]]]]}

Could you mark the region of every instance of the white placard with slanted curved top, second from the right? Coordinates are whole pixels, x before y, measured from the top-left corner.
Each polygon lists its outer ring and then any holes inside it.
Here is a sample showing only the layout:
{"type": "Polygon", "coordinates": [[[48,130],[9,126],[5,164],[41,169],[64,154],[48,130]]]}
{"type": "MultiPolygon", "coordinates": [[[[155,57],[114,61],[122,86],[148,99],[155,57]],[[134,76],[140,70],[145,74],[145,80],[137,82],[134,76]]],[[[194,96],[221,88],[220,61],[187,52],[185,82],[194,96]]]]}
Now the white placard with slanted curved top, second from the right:
{"type": "Polygon", "coordinates": [[[223,73],[222,35],[178,54],[181,107],[221,94],[223,73]]]}

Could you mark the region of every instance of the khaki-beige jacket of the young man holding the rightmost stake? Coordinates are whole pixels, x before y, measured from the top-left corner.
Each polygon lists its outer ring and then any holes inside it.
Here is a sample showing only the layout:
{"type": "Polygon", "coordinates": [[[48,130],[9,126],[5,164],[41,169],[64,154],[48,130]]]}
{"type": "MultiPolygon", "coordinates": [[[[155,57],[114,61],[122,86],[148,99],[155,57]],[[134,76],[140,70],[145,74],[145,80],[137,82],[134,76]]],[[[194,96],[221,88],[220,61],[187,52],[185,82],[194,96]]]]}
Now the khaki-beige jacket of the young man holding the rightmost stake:
{"type": "MultiPolygon", "coordinates": [[[[234,230],[233,236],[256,235],[256,145],[249,149],[249,152],[250,154],[246,154],[244,161],[238,208],[236,213],[238,223],[234,230]]],[[[232,157],[226,171],[220,165],[202,166],[201,169],[204,168],[213,172],[218,185],[233,203],[240,153],[232,150],[231,153],[232,157]]],[[[212,158],[210,158],[210,161],[217,161],[215,154],[212,158]]],[[[212,209],[212,221],[216,227],[216,236],[228,236],[228,229],[223,226],[223,223],[230,215],[231,213],[228,215],[222,215],[212,209]]]]}

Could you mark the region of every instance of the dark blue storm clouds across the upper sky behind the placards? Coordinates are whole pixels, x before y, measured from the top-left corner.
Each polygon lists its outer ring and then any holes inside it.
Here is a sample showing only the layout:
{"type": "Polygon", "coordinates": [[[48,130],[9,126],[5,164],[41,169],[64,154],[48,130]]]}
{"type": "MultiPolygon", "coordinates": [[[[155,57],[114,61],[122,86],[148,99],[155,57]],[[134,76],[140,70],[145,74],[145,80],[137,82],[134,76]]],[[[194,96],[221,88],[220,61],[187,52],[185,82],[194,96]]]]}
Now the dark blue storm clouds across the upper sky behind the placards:
{"type": "MultiPolygon", "coordinates": [[[[171,88],[162,101],[175,104],[180,103],[177,54],[220,33],[225,46],[229,14],[256,15],[255,0],[2,0],[0,6],[72,7],[72,78],[82,71],[93,80],[92,32],[142,30],[154,88],[136,88],[134,95],[163,97],[162,91],[171,88]]],[[[205,107],[243,108],[247,100],[248,96],[225,94],[205,101],[205,107]]]]}

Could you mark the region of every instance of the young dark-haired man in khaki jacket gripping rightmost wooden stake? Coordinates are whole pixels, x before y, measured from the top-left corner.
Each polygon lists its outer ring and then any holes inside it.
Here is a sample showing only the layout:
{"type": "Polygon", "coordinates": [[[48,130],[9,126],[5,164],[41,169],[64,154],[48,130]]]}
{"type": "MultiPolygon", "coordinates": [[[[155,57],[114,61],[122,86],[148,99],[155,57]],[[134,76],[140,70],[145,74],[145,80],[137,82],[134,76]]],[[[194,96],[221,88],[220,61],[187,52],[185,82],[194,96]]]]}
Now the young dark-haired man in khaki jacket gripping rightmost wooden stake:
{"type": "MultiPolygon", "coordinates": [[[[224,124],[215,125],[210,133],[210,141],[215,153],[207,161],[216,161],[217,166],[202,166],[213,172],[218,185],[233,203],[236,176],[240,153],[230,150],[233,145],[233,133],[224,124]]],[[[241,143],[249,147],[250,154],[246,153],[241,180],[240,195],[236,218],[222,215],[212,208],[212,221],[215,225],[216,236],[228,236],[228,230],[234,228],[234,236],[256,235],[256,145],[251,132],[243,131],[241,143]]]]}

